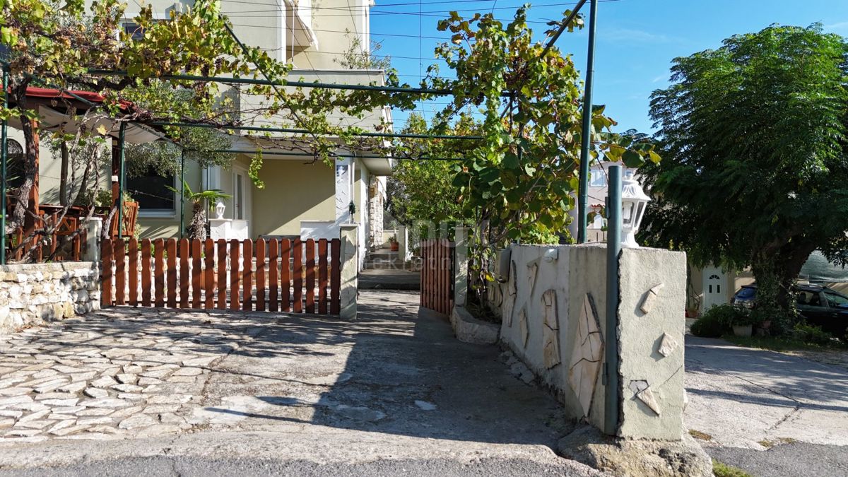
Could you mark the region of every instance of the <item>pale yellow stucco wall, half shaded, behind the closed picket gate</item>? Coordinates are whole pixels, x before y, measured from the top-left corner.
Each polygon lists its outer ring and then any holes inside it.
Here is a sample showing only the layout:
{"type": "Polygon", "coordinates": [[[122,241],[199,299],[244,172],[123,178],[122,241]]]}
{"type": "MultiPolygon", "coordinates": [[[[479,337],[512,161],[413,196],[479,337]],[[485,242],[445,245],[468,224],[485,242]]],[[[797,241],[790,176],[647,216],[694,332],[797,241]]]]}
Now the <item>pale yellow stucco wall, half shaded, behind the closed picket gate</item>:
{"type": "Polygon", "coordinates": [[[334,171],[323,162],[265,160],[253,190],[253,235],[298,235],[300,221],[336,218],[334,171]]]}

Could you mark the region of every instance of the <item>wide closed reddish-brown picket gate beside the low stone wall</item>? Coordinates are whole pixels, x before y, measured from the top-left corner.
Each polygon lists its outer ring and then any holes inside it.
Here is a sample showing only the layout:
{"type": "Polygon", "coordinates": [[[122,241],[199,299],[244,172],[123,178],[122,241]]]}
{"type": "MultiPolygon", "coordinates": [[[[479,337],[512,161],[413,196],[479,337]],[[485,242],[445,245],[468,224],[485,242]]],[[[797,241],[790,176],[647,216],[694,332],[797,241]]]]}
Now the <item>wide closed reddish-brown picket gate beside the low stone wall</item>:
{"type": "Polygon", "coordinates": [[[104,240],[103,306],[338,315],[339,239],[104,240]]]}

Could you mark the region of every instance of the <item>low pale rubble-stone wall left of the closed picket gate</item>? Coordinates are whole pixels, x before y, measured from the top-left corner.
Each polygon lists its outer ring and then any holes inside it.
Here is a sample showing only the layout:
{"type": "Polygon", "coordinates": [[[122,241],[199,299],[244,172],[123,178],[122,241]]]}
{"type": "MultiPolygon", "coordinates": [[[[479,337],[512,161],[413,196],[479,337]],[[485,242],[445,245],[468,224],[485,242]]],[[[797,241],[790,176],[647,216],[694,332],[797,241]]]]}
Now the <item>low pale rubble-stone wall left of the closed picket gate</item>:
{"type": "Polygon", "coordinates": [[[0,334],[99,307],[97,262],[0,266],[0,334]]]}

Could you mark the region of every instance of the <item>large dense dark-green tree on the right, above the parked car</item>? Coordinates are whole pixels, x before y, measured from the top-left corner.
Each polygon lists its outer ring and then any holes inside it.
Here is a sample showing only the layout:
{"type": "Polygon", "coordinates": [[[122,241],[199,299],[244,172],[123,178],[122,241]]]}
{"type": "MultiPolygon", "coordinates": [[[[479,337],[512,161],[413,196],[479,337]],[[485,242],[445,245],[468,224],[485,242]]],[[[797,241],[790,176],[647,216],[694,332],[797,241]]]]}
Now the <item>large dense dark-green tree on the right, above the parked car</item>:
{"type": "Polygon", "coordinates": [[[651,100],[663,160],[639,171],[656,198],[642,238],[750,266],[763,309],[783,315],[813,250],[845,263],[846,58],[821,25],[773,25],[675,59],[651,100]]]}

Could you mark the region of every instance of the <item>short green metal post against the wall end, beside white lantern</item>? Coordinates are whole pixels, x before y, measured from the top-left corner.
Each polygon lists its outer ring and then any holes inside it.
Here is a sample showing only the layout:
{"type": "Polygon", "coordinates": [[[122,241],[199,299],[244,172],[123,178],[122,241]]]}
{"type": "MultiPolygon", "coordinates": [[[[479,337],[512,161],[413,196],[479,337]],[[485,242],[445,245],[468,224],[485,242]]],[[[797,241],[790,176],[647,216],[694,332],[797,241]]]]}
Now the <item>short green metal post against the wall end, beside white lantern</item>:
{"type": "Polygon", "coordinates": [[[622,166],[610,166],[606,198],[606,333],[604,368],[604,432],[618,433],[618,257],[622,253],[622,166]]]}

